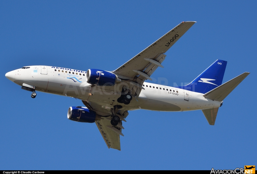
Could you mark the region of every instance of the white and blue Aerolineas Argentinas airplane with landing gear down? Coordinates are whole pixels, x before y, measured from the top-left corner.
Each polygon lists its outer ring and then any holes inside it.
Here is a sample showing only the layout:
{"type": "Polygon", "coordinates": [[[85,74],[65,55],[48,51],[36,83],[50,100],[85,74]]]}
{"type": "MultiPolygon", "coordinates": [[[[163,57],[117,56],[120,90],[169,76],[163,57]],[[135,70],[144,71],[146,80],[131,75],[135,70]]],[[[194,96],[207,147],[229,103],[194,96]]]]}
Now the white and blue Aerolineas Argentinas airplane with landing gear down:
{"type": "Polygon", "coordinates": [[[164,54],[195,21],[181,22],[160,39],[114,71],[33,65],[10,71],[5,76],[22,89],[73,97],[84,107],[72,106],[67,117],[72,121],[96,123],[108,148],[121,150],[122,123],[128,111],[202,110],[208,123],[215,124],[223,100],[250,73],[245,72],[222,84],[227,61],[216,60],[191,83],[170,87],[147,83],[158,67],[163,68],[164,54]]]}

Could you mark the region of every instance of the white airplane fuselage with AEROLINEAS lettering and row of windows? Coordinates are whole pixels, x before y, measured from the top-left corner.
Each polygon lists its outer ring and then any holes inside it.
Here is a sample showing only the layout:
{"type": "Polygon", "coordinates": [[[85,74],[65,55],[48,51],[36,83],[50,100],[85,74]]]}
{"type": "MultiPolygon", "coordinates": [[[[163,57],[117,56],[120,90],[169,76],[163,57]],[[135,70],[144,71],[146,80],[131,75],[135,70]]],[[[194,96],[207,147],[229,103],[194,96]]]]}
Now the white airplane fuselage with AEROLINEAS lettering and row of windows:
{"type": "Polygon", "coordinates": [[[121,85],[91,87],[86,82],[86,72],[51,66],[28,66],[6,73],[6,77],[22,86],[35,86],[36,91],[74,97],[112,108],[121,105],[122,110],[147,109],[155,111],[190,111],[217,108],[222,102],[209,100],[203,94],[176,87],[143,83],[139,97],[130,104],[118,103],[121,85]],[[83,75],[84,74],[84,75],[83,75]],[[151,87],[150,87],[151,86],[151,87]]]}

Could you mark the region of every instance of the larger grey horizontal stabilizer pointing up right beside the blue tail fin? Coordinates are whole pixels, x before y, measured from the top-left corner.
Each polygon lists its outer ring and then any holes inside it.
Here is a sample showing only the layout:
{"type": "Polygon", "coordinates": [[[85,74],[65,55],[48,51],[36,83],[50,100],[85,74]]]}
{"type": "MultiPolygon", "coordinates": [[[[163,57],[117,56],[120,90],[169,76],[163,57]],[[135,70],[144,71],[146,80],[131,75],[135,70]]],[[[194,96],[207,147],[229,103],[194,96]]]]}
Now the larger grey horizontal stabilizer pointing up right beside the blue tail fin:
{"type": "MultiPolygon", "coordinates": [[[[245,77],[247,77],[250,73],[243,73],[231,80],[229,80],[228,82],[218,86],[217,88],[214,88],[213,90],[207,92],[206,94],[204,94],[203,96],[205,98],[211,99],[211,100],[216,100],[216,101],[222,101],[224,100],[224,98],[226,98],[228,96],[228,94],[230,94],[231,91],[233,91],[235,89],[235,87],[237,87],[238,84],[240,84],[245,77]]],[[[205,116],[206,117],[206,116],[205,116]]],[[[207,119],[208,120],[208,119],[207,119]]]]}

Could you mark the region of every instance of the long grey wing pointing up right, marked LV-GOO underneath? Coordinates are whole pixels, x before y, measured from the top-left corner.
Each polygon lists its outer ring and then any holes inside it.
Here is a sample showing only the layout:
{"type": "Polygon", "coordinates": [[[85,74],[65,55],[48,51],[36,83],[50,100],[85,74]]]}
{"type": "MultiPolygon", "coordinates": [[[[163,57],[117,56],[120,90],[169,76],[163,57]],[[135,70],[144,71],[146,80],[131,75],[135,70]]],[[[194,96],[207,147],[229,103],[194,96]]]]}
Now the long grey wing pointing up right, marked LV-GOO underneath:
{"type": "MultiPolygon", "coordinates": [[[[141,80],[151,80],[150,76],[157,67],[163,67],[160,63],[165,59],[166,55],[164,55],[164,53],[168,51],[170,47],[194,24],[195,22],[193,21],[181,22],[160,39],[149,45],[149,47],[134,56],[131,60],[113,71],[113,73],[126,77],[140,75],[139,78],[141,80]]],[[[136,80],[133,81],[135,82],[136,80]]],[[[137,82],[140,83],[139,81],[137,82]]]]}

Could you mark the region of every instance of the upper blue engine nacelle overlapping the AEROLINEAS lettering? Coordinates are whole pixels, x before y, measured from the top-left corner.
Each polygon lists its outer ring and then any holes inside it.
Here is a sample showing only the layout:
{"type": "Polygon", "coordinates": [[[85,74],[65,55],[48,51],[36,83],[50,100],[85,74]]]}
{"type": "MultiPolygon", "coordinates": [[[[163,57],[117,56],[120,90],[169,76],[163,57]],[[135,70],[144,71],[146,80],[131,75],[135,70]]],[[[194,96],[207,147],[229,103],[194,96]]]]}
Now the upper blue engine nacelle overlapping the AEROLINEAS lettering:
{"type": "Polygon", "coordinates": [[[121,83],[121,79],[115,74],[100,69],[88,69],[86,81],[91,85],[113,86],[115,83],[121,83]]]}

